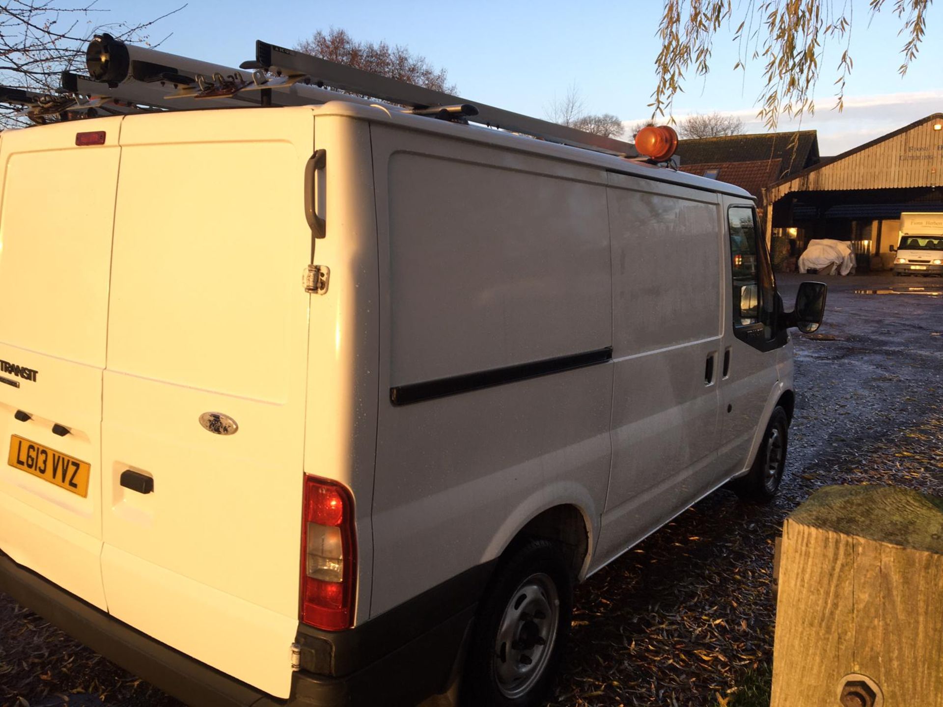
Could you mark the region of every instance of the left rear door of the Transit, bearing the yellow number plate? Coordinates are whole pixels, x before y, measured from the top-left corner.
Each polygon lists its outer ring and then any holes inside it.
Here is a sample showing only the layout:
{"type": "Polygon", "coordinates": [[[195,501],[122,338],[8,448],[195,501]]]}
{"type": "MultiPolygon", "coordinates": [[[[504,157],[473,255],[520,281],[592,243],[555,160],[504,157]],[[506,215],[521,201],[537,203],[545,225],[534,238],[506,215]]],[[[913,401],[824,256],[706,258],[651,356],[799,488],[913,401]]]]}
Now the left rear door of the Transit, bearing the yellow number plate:
{"type": "Polygon", "coordinates": [[[102,370],[121,121],[8,130],[0,144],[0,550],[103,609],[102,370]],[[83,132],[91,144],[77,146],[83,132]]]}

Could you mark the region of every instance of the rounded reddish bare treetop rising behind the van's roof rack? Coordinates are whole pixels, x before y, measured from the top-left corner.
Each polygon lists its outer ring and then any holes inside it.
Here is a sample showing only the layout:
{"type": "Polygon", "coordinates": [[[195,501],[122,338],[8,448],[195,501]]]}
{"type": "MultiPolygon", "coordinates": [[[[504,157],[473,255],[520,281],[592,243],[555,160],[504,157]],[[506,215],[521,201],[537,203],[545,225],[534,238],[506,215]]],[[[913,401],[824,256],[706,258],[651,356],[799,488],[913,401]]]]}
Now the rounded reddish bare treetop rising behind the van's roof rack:
{"type": "Polygon", "coordinates": [[[408,47],[390,47],[386,41],[356,41],[343,29],[331,27],[327,34],[315,32],[310,39],[295,45],[299,52],[336,61],[356,69],[395,78],[426,89],[455,93],[448,83],[448,72],[437,69],[425,57],[412,54],[408,47]]]}

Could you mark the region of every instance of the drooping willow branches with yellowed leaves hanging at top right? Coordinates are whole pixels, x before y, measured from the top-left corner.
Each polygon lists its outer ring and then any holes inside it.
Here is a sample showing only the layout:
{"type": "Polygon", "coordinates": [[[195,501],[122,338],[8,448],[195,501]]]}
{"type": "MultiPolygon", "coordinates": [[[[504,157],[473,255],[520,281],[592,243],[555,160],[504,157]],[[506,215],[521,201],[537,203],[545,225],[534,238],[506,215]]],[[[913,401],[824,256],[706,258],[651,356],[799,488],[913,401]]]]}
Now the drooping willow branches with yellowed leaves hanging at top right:
{"type": "MultiPolygon", "coordinates": [[[[710,70],[711,50],[719,30],[740,20],[734,30],[739,45],[735,69],[762,62],[765,85],[757,98],[758,117],[775,129],[782,114],[799,117],[815,112],[813,95],[826,43],[843,49],[837,62],[835,107],[843,107],[845,82],[852,72],[849,42],[852,8],[846,0],[662,0],[659,25],[662,48],[655,59],[653,114],[670,115],[674,96],[683,90],[692,69],[703,76],[710,70]],[[735,10],[736,8],[736,10],[735,10]],[[735,16],[736,13],[736,16],[735,16]]],[[[888,7],[901,23],[905,41],[900,74],[917,58],[933,0],[869,0],[869,22],[888,7]]],[[[859,21],[860,22],[860,21],[859,21]]]]}

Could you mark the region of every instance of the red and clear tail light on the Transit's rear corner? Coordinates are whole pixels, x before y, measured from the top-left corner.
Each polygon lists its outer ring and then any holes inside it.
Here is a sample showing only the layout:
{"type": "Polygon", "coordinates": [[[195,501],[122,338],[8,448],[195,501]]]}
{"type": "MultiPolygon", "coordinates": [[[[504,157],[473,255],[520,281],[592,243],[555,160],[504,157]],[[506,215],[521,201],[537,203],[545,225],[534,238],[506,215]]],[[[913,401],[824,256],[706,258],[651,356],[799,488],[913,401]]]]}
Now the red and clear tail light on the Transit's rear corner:
{"type": "Polygon", "coordinates": [[[305,477],[301,620],[325,631],[350,628],[356,582],[354,499],[332,481],[305,477]]]}

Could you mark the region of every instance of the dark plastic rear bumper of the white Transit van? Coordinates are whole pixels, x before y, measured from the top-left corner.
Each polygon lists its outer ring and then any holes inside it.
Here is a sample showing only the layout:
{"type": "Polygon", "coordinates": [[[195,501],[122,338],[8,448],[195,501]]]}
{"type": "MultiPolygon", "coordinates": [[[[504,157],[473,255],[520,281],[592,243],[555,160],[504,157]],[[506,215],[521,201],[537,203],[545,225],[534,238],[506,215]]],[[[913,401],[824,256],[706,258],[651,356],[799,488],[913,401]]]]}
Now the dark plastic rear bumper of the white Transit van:
{"type": "MultiPolygon", "coordinates": [[[[476,572],[473,579],[478,580],[478,575],[484,575],[487,580],[487,574],[489,572],[476,572]]],[[[472,583],[468,581],[470,579],[466,578],[464,586],[472,595],[480,594],[475,588],[478,582],[472,583]]],[[[428,627],[428,617],[437,614],[436,607],[426,605],[422,616],[409,616],[424,603],[418,601],[426,596],[421,595],[402,607],[406,613],[394,609],[350,631],[326,633],[304,628],[299,632],[303,668],[312,663],[324,663],[331,672],[338,668],[356,669],[342,677],[316,675],[302,669],[293,674],[290,699],[281,700],[136,631],[17,565],[3,552],[0,552],[0,591],[113,663],[175,698],[199,707],[415,704],[447,688],[454,676],[475,610],[474,603],[459,606],[457,611],[452,604],[447,607],[448,617],[444,620],[437,618],[435,625],[428,627]],[[374,622],[376,625],[371,626],[374,622]],[[404,631],[399,635],[390,634],[389,630],[397,626],[403,627],[404,631]],[[412,635],[417,626],[424,630],[412,635]],[[385,639],[378,646],[371,639],[381,634],[385,634],[385,639]],[[363,660],[376,659],[365,664],[358,660],[358,656],[363,660]]],[[[459,592],[455,598],[464,599],[465,596],[464,592],[459,592]]]]}

